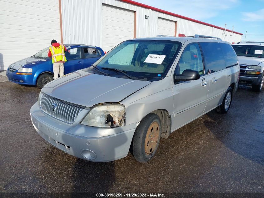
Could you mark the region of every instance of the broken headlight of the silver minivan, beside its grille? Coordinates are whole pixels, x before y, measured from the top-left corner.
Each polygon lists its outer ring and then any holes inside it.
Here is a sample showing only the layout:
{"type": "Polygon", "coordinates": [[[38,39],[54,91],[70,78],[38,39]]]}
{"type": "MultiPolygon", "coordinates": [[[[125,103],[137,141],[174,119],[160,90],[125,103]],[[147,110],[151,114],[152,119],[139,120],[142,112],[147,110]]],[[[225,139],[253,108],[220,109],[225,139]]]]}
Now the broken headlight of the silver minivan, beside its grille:
{"type": "Polygon", "coordinates": [[[99,104],[91,108],[81,124],[95,127],[116,127],[125,124],[125,106],[122,104],[99,104]]]}

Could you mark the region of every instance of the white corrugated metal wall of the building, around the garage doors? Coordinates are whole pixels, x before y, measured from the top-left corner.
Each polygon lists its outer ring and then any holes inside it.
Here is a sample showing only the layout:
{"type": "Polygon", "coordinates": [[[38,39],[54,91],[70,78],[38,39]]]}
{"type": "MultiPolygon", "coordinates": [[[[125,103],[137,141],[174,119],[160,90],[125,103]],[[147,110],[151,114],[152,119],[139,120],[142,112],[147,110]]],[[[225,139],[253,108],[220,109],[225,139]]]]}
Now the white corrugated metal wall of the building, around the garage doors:
{"type": "Polygon", "coordinates": [[[227,31],[223,34],[224,30],[221,29],[118,0],[64,0],[62,1],[63,39],[66,38],[64,43],[82,43],[102,47],[102,3],[135,11],[136,37],[156,36],[159,17],[177,21],[177,35],[182,33],[186,36],[194,34],[216,36],[230,43],[241,40],[239,34],[231,36],[232,33],[227,31]],[[145,19],[145,15],[149,18],[145,19]]]}

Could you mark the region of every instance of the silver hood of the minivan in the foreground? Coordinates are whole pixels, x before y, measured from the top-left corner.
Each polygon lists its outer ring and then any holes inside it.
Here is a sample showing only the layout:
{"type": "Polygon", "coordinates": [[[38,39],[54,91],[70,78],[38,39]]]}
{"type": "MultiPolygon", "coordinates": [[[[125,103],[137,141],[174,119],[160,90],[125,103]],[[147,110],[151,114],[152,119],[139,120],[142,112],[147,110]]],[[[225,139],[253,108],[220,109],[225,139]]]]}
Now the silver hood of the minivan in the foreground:
{"type": "Polygon", "coordinates": [[[57,99],[91,107],[104,102],[120,102],[150,83],[78,70],[51,81],[41,91],[57,99]]]}

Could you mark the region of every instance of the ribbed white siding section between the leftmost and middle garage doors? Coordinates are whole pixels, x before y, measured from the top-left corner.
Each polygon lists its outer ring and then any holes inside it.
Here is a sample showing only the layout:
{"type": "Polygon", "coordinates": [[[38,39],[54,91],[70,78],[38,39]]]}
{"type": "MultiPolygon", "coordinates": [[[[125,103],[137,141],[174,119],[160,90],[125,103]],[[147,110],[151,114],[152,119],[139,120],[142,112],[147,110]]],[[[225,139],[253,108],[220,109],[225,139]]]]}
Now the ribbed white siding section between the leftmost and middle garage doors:
{"type": "Polygon", "coordinates": [[[61,6],[63,43],[102,45],[102,1],[64,0],[61,6]]]}

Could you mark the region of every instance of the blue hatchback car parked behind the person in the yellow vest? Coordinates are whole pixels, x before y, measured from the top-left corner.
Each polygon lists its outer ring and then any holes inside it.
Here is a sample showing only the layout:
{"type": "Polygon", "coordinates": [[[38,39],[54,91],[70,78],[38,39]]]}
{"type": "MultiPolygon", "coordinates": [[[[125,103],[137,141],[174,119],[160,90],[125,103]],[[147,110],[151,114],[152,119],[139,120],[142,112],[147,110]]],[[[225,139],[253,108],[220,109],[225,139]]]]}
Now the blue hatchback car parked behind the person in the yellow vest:
{"type": "MultiPolygon", "coordinates": [[[[89,67],[104,55],[102,48],[96,46],[63,45],[67,49],[65,52],[67,62],[64,63],[64,74],[89,67]]],[[[40,89],[52,81],[53,64],[51,57],[47,56],[48,50],[49,47],[31,57],[12,63],[6,71],[8,80],[17,84],[37,85],[40,89]]]]}

